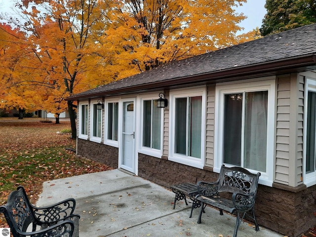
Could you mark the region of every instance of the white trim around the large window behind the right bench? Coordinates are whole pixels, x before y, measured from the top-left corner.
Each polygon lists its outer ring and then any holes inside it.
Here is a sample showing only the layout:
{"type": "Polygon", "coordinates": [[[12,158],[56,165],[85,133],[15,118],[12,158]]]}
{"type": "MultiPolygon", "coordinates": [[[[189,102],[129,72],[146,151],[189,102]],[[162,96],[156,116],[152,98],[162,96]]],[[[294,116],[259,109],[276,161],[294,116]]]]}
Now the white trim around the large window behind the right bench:
{"type": "MultiPolygon", "coordinates": [[[[224,94],[244,91],[268,90],[268,131],[267,131],[267,166],[266,172],[262,172],[259,183],[272,187],[274,177],[274,147],[275,147],[275,103],[276,80],[259,80],[245,83],[219,83],[216,84],[215,94],[215,141],[214,141],[214,168],[219,173],[223,164],[223,125],[224,125],[224,94]],[[270,128],[270,129],[269,129],[270,128]]],[[[227,166],[230,166],[227,164],[227,166]]],[[[250,172],[258,172],[248,169],[250,172]]]]}

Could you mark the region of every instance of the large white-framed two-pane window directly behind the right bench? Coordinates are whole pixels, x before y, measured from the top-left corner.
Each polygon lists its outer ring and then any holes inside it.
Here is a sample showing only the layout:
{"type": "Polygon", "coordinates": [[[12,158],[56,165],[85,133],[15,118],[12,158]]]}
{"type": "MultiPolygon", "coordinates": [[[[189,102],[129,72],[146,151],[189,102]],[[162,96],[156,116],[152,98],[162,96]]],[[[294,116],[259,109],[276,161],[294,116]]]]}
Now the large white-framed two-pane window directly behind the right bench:
{"type": "Polygon", "coordinates": [[[275,79],[216,85],[214,171],[225,163],[261,172],[271,186],[274,165],[275,79]]]}

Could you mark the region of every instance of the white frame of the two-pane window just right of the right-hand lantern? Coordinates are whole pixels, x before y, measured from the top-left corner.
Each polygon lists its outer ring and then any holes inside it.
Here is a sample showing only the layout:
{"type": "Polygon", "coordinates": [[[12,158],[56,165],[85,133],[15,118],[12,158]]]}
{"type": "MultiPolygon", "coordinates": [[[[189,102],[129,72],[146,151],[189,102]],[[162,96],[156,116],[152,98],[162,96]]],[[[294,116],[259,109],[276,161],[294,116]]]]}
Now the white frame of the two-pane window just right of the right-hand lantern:
{"type": "Polygon", "coordinates": [[[170,90],[169,93],[169,157],[168,160],[202,169],[205,163],[205,130],[206,130],[206,87],[170,90]],[[175,100],[183,97],[202,97],[201,111],[201,158],[194,158],[175,153],[175,100]]]}

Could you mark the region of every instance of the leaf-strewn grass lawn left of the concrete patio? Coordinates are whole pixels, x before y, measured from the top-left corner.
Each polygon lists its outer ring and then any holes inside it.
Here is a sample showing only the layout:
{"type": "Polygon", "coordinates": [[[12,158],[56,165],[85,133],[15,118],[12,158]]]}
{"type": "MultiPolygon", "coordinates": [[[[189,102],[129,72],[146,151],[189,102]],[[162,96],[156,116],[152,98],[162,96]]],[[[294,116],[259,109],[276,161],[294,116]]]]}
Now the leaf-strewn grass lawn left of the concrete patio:
{"type": "MultiPolygon", "coordinates": [[[[0,118],[0,205],[19,185],[36,203],[44,181],[112,169],[66,149],[76,149],[76,139],[65,132],[70,130],[69,121],[43,121],[0,118]]],[[[0,214],[0,227],[4,225],[6,221],[0,214]]]]}

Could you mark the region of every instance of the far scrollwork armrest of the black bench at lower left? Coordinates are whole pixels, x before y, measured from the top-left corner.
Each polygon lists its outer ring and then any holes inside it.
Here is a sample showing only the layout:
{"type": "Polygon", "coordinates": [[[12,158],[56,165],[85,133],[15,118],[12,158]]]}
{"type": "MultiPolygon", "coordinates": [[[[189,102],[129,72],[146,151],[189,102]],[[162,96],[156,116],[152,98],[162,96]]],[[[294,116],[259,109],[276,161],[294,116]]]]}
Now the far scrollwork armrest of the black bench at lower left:
{"type": "Polygon", "coordinates": [[[34,215],[42,223],[56,222],[72,216],[76,207],[74,198],[68,198],[51,206],[32,206],[34,215]]]}

